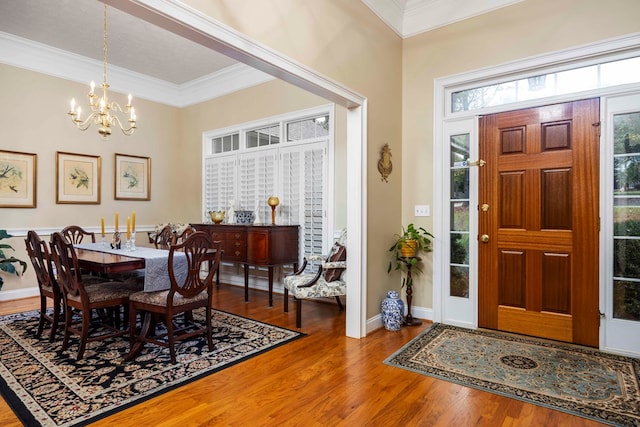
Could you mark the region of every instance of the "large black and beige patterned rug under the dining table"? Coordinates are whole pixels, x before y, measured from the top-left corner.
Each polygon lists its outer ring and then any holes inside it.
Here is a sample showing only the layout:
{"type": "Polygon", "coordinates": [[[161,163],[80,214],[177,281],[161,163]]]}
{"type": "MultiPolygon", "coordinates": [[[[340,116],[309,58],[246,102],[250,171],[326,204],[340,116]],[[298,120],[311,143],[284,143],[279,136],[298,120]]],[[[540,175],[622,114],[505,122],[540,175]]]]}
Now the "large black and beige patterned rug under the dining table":
{"type": "MultiPolygon", "coordinates": [[[[204,309],[193,312],[204,321],[204,309]]],[[[36,337],[38,311],[0,316],[0,394],[26,426],[80,426],[247,360],[304,334],[214,310],[213,339],[193,338],[168,349],[146,345],[123,362],[126,338],[87,343],[76,361],[77,339],[64,352],[62,336],[36,337]]]]}

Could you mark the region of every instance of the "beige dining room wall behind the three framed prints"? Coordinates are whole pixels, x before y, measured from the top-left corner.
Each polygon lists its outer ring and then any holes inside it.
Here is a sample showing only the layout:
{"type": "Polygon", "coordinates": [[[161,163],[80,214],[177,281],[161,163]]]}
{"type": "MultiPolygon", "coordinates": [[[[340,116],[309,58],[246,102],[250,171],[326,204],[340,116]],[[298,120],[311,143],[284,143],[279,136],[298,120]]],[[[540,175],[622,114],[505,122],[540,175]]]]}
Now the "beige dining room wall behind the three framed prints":
{"type": "MultiPolygon", "coordinates": [[[[43,237],[48,239],[47,230],[62,229],[69,224],[99,228],[102,216],[107,229],[112,229],[116,211],[120,212],[121,227],[134,209],[140,226],[153,225],[174,216],[177,211],[173,202],[177,194],[175,180],[180,175],[180,171],[172,169],[177,153],[175,142],[180,135],[178,109],[134,100],[139,111],[138,132],[130,137],[114,133],[108,141],[103,141],[95,126],[80,132],[66,115],[71,98],[84,103],[87,91],[88,85],[0,64],[3,100],[0,102],[0,149],[37,154],[37,207],[0,209],[0,228],[42,230],[43,237]],[[99,205],[56,204],[56,151],[101,157],[99,205]],[[114,200],[115,153],[151,157],[150,202],[114,200]]],[[[125,95],[110,93],[110,96],[121,103],[126,102],[125,95]]],[[[16,249],[13,254],[28,261],[24,236],[2,243],[13,246],[16,249]]],[[[24,277],[3,273],[3,278],[3,291],[36,286],[31,266],[24,277]]]]}

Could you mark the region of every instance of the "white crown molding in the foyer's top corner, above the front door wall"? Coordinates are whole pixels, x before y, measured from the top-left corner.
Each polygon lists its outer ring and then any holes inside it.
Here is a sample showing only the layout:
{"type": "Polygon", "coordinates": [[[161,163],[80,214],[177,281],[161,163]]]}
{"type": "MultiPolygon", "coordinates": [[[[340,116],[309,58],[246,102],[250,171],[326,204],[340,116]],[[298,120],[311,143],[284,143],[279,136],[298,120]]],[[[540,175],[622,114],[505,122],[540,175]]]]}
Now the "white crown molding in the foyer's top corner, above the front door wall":
{"type": "Polygon", "coordinates": [[[525,0],[362,0],[400,37],[412,37],[525,0]]]}

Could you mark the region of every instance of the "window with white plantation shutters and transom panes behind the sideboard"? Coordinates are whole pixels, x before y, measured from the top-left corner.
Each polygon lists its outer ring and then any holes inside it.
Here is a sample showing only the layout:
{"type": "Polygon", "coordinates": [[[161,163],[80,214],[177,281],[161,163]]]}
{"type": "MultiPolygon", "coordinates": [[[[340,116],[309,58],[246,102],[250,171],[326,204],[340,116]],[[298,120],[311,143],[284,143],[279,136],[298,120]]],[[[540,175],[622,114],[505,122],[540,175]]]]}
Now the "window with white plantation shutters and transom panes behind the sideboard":
{"type": "Polygon", "coordinates": [[[329,113],[288,115],[271,123],[239,125],[204,135],[203,206],[208,212],[252,210],[271,222],[266,201],[278,196],[277,224],[300,225],[300,255],[324,254],[331,245],[327,201],[329,113]]]}

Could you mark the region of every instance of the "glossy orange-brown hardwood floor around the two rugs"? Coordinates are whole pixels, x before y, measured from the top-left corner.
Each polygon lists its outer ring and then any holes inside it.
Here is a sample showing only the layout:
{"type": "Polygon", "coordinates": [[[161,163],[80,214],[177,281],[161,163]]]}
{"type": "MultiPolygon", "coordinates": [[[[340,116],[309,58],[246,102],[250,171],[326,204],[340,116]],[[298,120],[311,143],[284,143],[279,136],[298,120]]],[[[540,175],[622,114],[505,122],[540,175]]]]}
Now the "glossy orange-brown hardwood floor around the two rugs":
{"type": "MultiPolygon", "coordinates": [[[[295,329],[282,296],[222,285],[220,309],[295,329]]],[[[36,309],[0,302],[0,314],[36,309]]],[[[337,305],[304,301],[308,336],[94,423],[94,426],[599,426],[580,417],[433,379],[382,361],[429,326],[344,336],[337,305]]],[[[20,426],[4,400],[0,425],[20,426]]]]}

